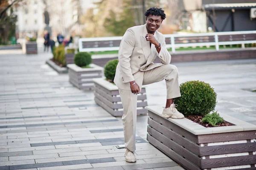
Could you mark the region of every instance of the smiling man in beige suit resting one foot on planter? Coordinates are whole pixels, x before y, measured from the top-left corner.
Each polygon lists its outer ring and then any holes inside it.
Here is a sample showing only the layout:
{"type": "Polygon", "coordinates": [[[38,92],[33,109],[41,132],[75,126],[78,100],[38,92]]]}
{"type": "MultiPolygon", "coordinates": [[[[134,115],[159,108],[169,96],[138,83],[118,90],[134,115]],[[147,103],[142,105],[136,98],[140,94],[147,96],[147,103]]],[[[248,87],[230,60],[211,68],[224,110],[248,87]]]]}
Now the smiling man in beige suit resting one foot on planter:
{"type": "Polygon", "coordinates": [[[136,161],[134,150],[136,149],[137,94],[140,93],[142,85],[165,79],[167,100],[162,116],[184,118],[173,104],[173,98],[180,97],[177,67],[169,64],[171,55],[166,49],[165,37],[157,32],[166,14],[162,9],[153,7],[145,12],[145,16],[145,25],[127,29],[122,38],[114,79],[124,108],[122,122],[127,162],[136,161]],[[153,63],[157,58],[161,63],[153,63]]]}

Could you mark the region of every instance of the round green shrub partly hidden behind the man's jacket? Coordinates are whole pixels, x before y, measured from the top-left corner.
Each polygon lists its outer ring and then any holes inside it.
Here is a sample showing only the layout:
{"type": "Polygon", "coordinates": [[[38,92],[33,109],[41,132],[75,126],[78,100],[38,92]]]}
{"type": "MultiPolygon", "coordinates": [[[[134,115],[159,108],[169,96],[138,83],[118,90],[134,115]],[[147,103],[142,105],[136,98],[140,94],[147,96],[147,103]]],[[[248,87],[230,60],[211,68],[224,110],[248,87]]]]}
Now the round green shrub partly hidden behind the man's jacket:
{"type": "Polygon", "coordinates": [[[116,75],[116,66],[118,64],[118,60],[111,60],[104,67],[104,75],[108,81],[113,82],[116,75]]]}

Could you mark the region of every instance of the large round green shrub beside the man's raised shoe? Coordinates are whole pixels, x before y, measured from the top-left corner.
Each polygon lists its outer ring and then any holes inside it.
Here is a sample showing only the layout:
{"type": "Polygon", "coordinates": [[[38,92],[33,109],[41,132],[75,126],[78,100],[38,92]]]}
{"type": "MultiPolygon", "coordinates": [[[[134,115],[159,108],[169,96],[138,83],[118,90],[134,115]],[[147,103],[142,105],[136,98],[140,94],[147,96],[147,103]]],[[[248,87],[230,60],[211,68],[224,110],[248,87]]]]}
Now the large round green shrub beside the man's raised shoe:
{"type": "Polygon", "coordinates": [[[180,98],[175,98],[177,110],[186,116],[205,116],[216,106],[217,94],[203,81],[187,81],[180,85],[180,98]]]}

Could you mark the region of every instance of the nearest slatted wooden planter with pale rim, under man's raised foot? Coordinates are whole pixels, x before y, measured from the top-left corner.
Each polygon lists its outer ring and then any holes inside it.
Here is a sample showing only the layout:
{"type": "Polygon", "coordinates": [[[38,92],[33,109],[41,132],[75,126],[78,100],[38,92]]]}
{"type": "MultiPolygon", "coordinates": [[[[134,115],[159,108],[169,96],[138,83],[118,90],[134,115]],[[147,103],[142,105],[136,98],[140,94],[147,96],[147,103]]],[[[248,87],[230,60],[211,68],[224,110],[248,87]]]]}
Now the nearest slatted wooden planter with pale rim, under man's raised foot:
{"type": "Polygon", "coordinates": [[[162,107],[146,107],[148,141],[187,170],[253,170],[256,126],[228,115],[229,127],[206,128],[189,119],[166,119],[162,107]]]}

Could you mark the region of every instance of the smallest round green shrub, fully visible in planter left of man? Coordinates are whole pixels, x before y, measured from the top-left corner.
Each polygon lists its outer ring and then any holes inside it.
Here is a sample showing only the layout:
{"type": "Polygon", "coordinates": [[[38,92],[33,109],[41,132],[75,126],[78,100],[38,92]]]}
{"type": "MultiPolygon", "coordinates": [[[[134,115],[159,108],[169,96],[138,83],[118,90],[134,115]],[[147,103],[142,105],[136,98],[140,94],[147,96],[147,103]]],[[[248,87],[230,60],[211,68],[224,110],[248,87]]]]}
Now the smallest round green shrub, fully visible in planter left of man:
{"type": "Polygon", "coordinates": [[[74,58],[74,63],[79,67],[88,66],[92,61],[92,56],[88,52],[78,52],[74,58]]]}

